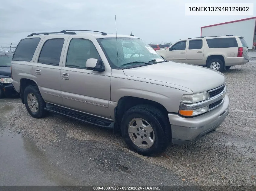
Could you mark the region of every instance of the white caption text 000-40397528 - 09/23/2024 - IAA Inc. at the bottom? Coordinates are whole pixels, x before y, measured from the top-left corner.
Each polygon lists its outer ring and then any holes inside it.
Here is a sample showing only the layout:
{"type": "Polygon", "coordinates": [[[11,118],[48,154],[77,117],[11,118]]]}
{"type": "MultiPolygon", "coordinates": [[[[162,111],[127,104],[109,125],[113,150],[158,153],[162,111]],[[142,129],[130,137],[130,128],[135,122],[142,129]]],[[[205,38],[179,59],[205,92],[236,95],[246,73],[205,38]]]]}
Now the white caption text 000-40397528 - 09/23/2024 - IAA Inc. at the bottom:
{"type": "Polygon", "coordinates": [[[93,186],[93,190],[160,190],[157,186],[93,186]]]}

